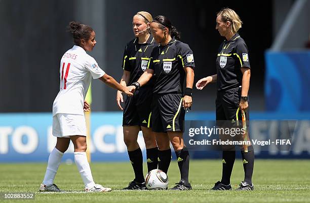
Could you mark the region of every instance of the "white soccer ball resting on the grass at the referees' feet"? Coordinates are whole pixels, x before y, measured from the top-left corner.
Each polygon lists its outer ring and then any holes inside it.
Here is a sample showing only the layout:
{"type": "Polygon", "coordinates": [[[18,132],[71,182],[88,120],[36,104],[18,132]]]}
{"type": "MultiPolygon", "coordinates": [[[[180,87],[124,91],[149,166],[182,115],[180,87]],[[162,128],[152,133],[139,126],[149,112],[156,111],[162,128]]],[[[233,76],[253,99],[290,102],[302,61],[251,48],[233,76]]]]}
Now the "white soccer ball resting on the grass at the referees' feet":
{"type": "Polygon", "coordinates": [[[154,169],[145,177],[145,185],[149,190],[166,190],[168,183],[168,176],[162,170],[154,169]]]}

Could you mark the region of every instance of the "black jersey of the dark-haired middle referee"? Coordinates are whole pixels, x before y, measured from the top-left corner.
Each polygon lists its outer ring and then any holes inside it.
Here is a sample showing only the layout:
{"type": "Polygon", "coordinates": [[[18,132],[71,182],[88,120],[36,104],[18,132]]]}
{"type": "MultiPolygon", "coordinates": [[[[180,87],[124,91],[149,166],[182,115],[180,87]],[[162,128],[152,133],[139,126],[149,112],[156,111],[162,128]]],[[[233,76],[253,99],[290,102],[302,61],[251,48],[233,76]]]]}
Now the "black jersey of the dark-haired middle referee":
{"type": "Polygon", "coordinates": [[[183,93],[183,67],[195,68],[193,53],[187,44],[173,38],[166,46],[155,47],[149,63],[156,77],[153,93],[183,93]]]}

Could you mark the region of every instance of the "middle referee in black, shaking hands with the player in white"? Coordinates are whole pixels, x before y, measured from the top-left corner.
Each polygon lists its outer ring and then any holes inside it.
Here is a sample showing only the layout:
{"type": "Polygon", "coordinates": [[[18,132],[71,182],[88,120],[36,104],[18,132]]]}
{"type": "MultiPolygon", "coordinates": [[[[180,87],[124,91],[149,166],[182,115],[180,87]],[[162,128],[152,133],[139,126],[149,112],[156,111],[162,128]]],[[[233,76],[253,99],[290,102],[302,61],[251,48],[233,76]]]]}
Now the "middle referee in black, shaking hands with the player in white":
{"type": "Polygon", "coordinates": [[[187,44],[180,42],[180,34],[165,16],[157,16],[151,23],[151,33],[157,43],[151,53],[148,69],[133,85],[140,86],[156,78],[152,101],[152,130],[159,147],[159,169],[165,173],[171,161],[171,142],[177,156],[181,179],[173,190],[190,190],[188,182],[189,154],[183,142],[185,109],[192,104],[191,91],[195,63],[187,44]],[[154,77],[152,77],[154,76],[154,77]],[[183,81],[186,78],[186,89],[183,81]]]}

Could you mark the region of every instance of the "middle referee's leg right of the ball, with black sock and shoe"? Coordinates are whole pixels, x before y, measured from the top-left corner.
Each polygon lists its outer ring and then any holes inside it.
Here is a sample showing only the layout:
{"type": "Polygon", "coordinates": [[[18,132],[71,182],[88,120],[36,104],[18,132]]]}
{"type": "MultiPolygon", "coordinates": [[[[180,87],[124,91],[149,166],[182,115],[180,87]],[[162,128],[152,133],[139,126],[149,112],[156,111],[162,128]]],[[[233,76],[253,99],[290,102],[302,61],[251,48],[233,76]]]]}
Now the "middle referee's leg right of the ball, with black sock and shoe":
{"type": "Polygon", "coordinates": [[[182,131],[168,131],[170,142],[175,151],[178,166],[181,174],[181,180],[176,183],[176,186],[171,188],[172,190],[190,190],[191,185],[188,182],[189,171],[189,153],[184,145],[183,132],[182,131]]]}

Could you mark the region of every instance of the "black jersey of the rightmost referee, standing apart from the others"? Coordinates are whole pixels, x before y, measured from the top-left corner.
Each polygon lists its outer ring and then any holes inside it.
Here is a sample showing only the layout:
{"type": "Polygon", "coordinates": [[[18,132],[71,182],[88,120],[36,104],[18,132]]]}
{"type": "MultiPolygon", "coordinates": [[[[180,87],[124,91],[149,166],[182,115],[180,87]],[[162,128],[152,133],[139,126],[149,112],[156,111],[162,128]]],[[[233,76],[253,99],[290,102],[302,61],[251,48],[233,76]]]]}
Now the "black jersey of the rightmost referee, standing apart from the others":
{"type": "Polygon", "coordinates": [[[242,85],[241,67],[249,67],[249,51],[238,33],[224,41],[216,58],[217,90],[228,90],[242,85]]]}

